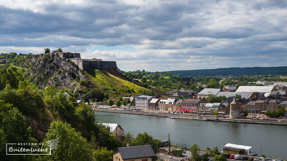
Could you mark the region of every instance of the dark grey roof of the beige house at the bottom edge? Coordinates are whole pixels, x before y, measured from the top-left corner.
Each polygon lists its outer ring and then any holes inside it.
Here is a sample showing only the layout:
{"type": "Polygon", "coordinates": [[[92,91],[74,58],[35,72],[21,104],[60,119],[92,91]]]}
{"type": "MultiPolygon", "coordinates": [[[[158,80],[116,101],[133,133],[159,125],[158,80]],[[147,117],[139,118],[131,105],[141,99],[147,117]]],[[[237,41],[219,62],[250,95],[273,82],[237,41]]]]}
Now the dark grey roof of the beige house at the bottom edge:
{"type": "Polygon", "coordinates": [[[150,145],[122,147],[118,149],[123,160],[156,156],[156,154],[154,154],[154,151],[152,150],[152,146],[150,145]]]}

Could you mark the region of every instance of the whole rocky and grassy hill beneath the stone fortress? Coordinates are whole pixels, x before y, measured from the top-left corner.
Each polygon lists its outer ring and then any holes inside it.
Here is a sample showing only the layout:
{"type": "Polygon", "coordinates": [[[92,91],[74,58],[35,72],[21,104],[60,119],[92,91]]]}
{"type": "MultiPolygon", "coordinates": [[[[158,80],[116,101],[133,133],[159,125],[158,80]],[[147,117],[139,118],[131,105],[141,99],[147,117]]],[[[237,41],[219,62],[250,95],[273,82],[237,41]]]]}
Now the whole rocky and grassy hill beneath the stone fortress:
{"type": "MultiPolygon", "coordinates": [[[[28,54],[24,57],[17,53],[1,53],[0,56],[8,59],[3,67],[8,68],[11,65],[20,67],[23,78],[30,80],[38,88],[44,89],[46,86],[55,85],[57,89],[69,93],[78,100],[84,99],[85,102],[139,95],[144,90],[144,87],[134,84],[119,72],[81,70],[71,60],[61,58],[57,54],[44,56],[28,54]]],[[[5,83],[0,88],[4,87],[5,83]]]]}

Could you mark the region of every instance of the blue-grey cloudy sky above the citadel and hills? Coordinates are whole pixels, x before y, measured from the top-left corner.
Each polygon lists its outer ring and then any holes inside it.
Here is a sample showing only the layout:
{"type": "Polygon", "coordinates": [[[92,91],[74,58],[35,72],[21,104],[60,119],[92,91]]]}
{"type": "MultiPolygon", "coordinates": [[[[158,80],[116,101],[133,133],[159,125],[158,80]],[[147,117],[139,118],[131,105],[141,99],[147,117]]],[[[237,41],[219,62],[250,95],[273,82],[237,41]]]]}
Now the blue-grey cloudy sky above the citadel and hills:
{"type": "Polygon", "coordinates": [[[81,53],[121,70],[286,66],[284,0],[1,0],[0,52],[81,53]]]}

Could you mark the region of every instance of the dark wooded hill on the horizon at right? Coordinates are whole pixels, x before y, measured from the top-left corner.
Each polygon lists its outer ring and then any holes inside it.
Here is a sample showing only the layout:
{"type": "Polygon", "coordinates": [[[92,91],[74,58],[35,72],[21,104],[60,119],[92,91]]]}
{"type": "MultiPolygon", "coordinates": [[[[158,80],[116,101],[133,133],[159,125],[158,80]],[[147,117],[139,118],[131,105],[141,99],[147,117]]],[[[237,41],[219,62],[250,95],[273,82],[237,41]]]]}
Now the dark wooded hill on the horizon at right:
{"type": "Polygon", "coordinates": [[[287,66],[278,67],[244,67],[244,68],[217,68],[217,69],[198,69],[198,70],[174,70],[167,71],[183,76],[216,76],[216,75],[282,75],[287,74],[287,66]]]}

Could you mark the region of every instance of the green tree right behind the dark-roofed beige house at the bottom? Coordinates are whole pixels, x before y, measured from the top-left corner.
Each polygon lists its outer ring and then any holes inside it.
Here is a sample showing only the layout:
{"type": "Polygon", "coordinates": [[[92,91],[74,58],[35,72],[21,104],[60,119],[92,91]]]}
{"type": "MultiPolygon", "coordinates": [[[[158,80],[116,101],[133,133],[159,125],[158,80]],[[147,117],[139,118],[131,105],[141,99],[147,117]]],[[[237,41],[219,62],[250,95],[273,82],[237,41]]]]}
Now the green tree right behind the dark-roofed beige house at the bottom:
{"type": "MultiPolygon", "coordinates": [[[[152,150],[154,150],[154,154],[158,153],[158,148],[160,147],[160,144],[160,140],[154,139],[151,135],[148,135],[147,132],[138,133],[135,140],[131,142],[131,146],[151,145],[152,150]]],[[[152,158],[153,161],[156,161],[157,159],[158,156],[152,158]]]]}

